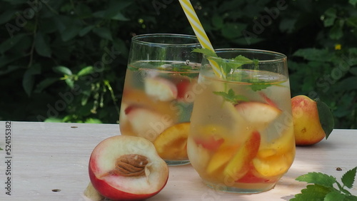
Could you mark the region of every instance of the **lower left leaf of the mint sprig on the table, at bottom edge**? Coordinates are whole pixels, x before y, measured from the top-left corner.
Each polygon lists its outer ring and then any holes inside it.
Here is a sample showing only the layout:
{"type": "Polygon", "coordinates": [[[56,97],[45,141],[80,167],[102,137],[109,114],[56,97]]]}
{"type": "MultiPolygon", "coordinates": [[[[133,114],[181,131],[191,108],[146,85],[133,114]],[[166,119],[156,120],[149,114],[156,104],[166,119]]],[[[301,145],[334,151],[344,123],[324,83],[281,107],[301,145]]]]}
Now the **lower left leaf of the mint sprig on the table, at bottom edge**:
{"type": "Polygon", "coordinates": [[[291,201],[323,201],[329,192],[331,192],[331,188],[329,187],[324,187],[322,185],[307,185],[306,188],[301,190],[301,193],[296,194],[291,201]]]}

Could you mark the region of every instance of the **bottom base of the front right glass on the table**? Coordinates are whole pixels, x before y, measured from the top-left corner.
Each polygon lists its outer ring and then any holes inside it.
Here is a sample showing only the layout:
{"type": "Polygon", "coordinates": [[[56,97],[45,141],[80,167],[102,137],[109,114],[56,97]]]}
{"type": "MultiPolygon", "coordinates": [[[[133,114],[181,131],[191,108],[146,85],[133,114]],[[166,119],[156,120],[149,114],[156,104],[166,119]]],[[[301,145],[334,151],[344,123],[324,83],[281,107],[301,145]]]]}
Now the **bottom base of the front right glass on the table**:
{"type": "Polygon", "coordinates": [[[215,184],[212,182],[208,182],[203,180],[204,184],[208,187],[213,188],[214,190],[223,191],[223,192],[234,192],[234,193],[241,193],[241,194],[252,194],[252,193],[259,193],[259,192],[266,192],[268,190],[273,189],[276,183],[268,183],[268,184],[261,184],[261,183],[242,183],[239,187],[238,183],[235,186],[227,186],[223,184],[215,184]]]}

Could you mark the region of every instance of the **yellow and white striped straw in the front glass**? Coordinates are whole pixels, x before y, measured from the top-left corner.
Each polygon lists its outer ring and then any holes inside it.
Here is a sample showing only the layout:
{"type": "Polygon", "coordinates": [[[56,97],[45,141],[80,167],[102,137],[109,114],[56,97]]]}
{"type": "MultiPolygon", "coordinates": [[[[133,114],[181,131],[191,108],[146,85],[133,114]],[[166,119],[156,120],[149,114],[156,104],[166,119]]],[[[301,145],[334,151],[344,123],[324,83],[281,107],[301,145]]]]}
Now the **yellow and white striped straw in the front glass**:
{"type": "MultiPolygon", "coordinates": [[[[191,2],[189,0],[178,0],[178,1],[180,1],[181,7],[186,14],[186,17],[190,22],[191,27],[198,38],[198,41],[201,43],[201,46],[203,48],[214,51],[213,46],[208,39],[206,31],[204,31],[203,26],[199,21],[196,11],[193,9],[191,2]]],[[[221,68],[219,68],[218,63],[216,63],[216,61],[210,61],[210,63],[213,72],[216,73],[216,76],[220,78],[224,78],[224,75],[221,71],[221,68]]]]}

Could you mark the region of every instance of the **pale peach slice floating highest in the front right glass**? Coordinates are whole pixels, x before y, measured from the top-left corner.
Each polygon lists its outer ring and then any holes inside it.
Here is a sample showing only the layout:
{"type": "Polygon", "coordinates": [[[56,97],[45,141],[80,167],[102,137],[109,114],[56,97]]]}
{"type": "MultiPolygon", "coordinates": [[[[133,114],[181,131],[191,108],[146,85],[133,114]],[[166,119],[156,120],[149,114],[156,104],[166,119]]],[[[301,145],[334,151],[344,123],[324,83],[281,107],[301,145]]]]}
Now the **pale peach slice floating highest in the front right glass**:
{"type": "Polygon", "coordinates": [[[259,102],[239,103],[235,105],[235,108],[243,118],[257,128],[265,128],[281,114],[278,108],[259,102]]]}

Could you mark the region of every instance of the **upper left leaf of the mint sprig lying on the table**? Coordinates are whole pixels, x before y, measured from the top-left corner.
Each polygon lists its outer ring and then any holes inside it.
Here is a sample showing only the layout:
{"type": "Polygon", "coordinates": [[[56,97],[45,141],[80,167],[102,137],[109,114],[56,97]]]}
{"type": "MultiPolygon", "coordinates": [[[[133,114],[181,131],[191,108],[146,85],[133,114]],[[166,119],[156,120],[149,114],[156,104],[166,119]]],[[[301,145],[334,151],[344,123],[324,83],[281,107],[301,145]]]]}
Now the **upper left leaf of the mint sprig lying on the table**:
{"type": "Polygon", "coordinates": [[[321,172],[308,172],[306,175],[301,175],[295,180],[299,182],[315,183],[324,187],[333,187],[333,183],[336,182],[335,177],[321,172]]]}

